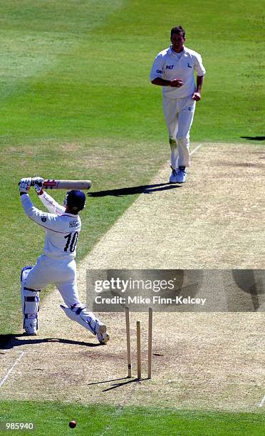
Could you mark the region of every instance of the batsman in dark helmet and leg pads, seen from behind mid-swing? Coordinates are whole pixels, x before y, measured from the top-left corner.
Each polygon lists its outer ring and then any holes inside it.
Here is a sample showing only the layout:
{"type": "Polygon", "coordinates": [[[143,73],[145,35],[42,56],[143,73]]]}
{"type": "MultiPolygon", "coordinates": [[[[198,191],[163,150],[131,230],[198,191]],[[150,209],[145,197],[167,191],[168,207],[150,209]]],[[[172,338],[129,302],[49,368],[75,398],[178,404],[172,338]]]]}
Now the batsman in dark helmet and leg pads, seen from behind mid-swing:
{"type": "Polygon", "coordinates": [[[61,308],[68,318],[80,323],[98,337],[100,343],[109,340],[107,328],[80,303],[76,285],[76,244],[81,229],[79,212],[85,207],[85,194],[73,190],[66,194],[63,206],[42,189],[41,177],[26,177],[19,182],[24,211],[46,232],[43,254],[36,264],[21,271],[21,302],[23,326],[27,335],[38,331],[39,292],[48,284],[56,284],[65,305],[61,308]],[[33,206],[28,190],[33,182],[38,197],[50,213],[33,206]]]}

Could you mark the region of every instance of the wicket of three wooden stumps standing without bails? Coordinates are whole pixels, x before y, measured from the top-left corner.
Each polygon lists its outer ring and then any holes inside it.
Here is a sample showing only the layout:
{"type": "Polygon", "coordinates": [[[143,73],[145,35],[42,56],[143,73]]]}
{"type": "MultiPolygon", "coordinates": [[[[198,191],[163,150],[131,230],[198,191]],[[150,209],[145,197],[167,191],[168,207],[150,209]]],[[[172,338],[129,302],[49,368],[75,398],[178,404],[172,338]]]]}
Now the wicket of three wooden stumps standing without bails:
{"type": "MultiPolygon", "coordinates": [[[[152,308],[149,308],[148,315],[148,375],[147,378],[152,376],[152,308]]],[[[132,358],[130,351],[130,311],[125,307],[126,319],[126,338],[127,338],[127,361],[128,361],[128,378],[132,378],[132,358]]],[[[141,368],[141,325],[140,321],[136,321],[136,343],[137,343],[137,380],[142,377],[141,368]]]]}

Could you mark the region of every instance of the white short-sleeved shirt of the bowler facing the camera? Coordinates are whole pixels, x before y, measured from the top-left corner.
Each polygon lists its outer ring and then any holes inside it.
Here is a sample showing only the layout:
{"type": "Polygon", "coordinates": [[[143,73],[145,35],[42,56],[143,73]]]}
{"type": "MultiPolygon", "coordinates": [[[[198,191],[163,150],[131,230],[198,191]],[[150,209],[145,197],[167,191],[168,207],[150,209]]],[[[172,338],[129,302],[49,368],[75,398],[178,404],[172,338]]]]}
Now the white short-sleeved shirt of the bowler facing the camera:
{"type": "MultiPolygon", "coordinates": [[[[180,56],[180,53],[178,55],[180,56]]],[[[205,74],[202,56],[199,53],[184,47],[180,58],[179,56],[169,47],[160,51],[152,64],[150,81],[157,77],[166,81],[182,78],[183,85],[180,88],[162,86],[162,93],[168,98],[185,98],[192,95],[196,90],[194,71],[197,76],[205,74]]]]}

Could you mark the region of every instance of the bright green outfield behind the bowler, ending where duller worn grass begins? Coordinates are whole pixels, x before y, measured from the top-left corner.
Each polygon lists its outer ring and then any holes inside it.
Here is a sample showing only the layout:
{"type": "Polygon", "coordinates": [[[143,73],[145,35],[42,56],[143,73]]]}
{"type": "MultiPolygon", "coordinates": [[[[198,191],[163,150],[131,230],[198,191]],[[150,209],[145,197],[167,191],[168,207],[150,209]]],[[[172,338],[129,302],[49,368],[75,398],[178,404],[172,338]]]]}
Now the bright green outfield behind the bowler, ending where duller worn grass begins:
{"type": "MultiPolygon", "coordinates": [[[[22,3],[0,2],[2,140],[165,140],[160,89],[148,77],[155,54],[169,44],[172,1],[22,3]]],[[[207,68],[192,138],[264,135],[261,4],[219,0],[198,8],[189,0],[181,21],[187,46],[203,54],[207,68]]]]}

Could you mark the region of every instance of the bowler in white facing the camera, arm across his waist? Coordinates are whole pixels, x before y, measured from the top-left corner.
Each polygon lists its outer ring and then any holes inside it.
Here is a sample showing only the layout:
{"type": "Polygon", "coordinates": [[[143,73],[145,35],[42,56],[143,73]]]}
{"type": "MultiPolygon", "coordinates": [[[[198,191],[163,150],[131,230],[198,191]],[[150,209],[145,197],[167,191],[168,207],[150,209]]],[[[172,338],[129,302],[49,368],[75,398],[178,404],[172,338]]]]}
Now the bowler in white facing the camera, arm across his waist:
{"type": "Polygon", "coordinates": [[[189,130],[196,102],[201,99],[205,68],[199,53],[185,47],[182,26],[171,29],[170,41],[172,45],[156,56],[150,81],[162,86],[163,113],[171,149],[170,183],[183,183],[187,177],[186,167],[190,165],[189,130]]]}

